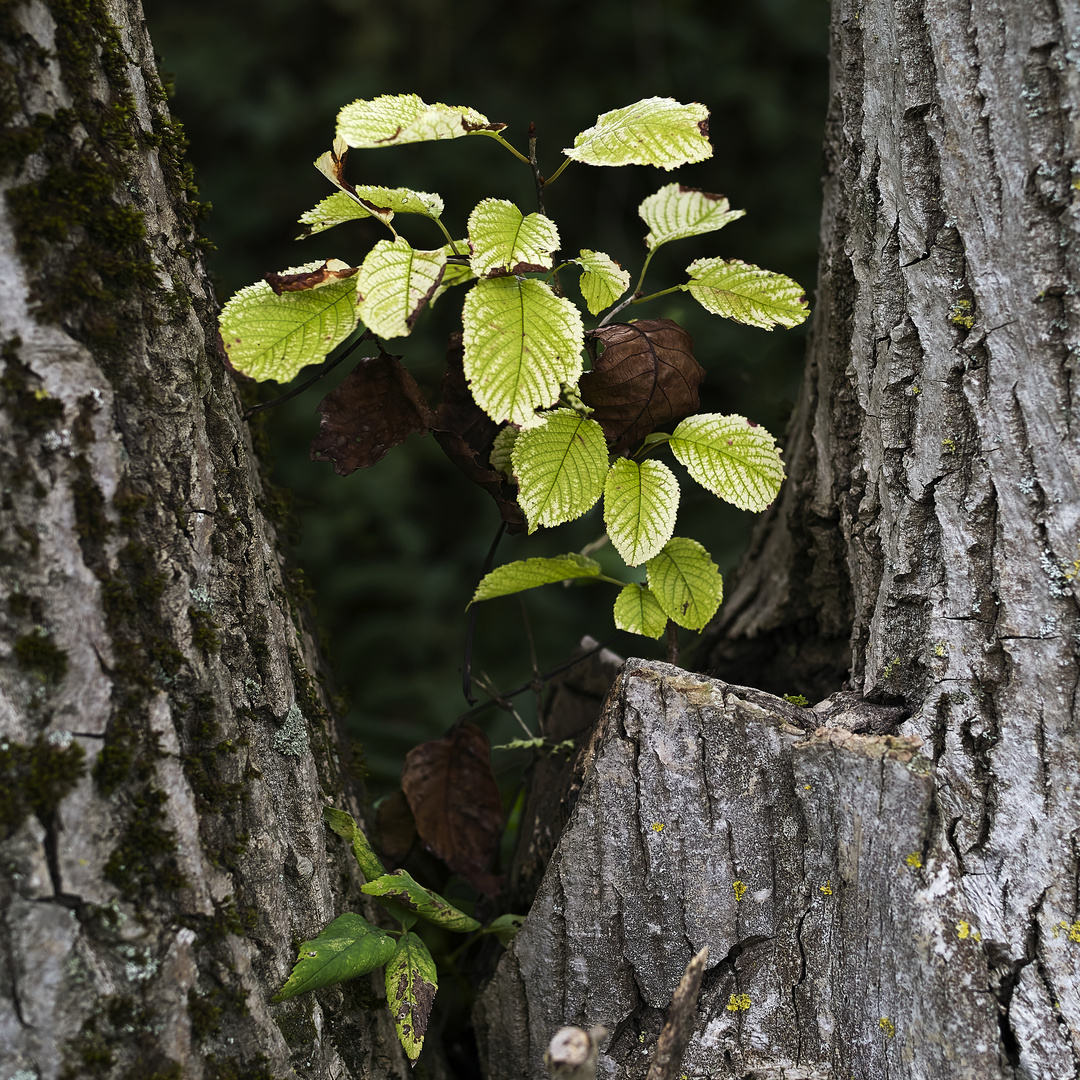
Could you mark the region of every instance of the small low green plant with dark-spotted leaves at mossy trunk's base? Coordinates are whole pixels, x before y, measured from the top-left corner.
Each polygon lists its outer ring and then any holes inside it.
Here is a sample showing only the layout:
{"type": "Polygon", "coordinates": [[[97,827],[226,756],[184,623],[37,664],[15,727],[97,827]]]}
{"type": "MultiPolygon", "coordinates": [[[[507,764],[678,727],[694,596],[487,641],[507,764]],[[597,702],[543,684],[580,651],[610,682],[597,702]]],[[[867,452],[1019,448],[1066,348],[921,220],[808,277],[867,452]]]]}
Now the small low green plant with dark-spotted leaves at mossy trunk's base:
{"type": "Polygon", "coordinates": [[[507,945],[524,918],[502,915],[482,927],[437,893],[417,883],[405,870],[388,874],[363,832],[343,810],[324,807],[323,819],[352,845],[366,881],[363,891],[374,896],[397,920],[401,929],[386,931],[362,915],[346,912],[318,937],[300,945],[288,981],[271,1000],[286,1001],[298,994],[357,978],[384,967],[387,1008],[394,1018],[405,1055],[416,1064],[438,989],[438,973],[428,946],[413,933],[413,927],[422,919],[456,933],[495,934],[507,945]]]}

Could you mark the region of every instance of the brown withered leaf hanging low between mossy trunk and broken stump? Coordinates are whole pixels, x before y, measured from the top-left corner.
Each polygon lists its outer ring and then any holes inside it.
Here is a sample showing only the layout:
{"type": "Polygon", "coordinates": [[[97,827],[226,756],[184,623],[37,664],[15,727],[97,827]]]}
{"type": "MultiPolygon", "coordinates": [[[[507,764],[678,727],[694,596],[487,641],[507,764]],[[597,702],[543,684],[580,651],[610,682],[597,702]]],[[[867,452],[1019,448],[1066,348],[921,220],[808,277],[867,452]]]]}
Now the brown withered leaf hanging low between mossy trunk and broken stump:
{"type": "Polygon", "coordinates": [[[495,894],[490,872],[502,834],[502,796],[491,771],[487,735],[458,724],[405,757],[402,789],[420,842],[481,892],[495,894]]]}

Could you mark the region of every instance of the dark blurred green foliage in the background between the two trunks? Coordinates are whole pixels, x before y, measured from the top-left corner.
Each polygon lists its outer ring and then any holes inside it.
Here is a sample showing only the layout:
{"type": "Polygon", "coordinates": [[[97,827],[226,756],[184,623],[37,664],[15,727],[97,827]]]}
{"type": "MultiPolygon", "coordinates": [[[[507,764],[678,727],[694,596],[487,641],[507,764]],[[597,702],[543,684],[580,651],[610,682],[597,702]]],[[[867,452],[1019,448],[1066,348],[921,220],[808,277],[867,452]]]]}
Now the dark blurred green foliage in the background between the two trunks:
{"type": "MultiPolygon", "coordinates": [[[[337,110],[357,97],[413,92],[509,124],[507,136],[523,151],[534,121],[548,174],[599,112],[657,95],[704,103],[712,160],[674,174],[571,165],[548,189],[564,253],[606,251],[636,275],[646,231],[637,205],[675,178],[726,194],[747,216],[721,233],[665,247],[650,268],[650,289],[683,281],[694,258],[726,255],[795,278],[812,305],[827,0],[262,0],[255,8],[146,0],[145,9],[160,65],[175,79],[173,111],[187,129],[202,198],[214,205],[206,231],[217,244],[210,267],[222,301],[267,271],[330,256],[356,264],[384,235],[368,220],[299,244],[292,239],[297,217],[332,191],[311,162],[328,149],[337,110]]],[[[455,235],[463,235],[469,211],[485,195],[535,208],[528,170],[487,139],[353,151],[348,170],[354,183],[440,192],[455,235]]],[[[441,243],[429,222],[396,224],[418,245],[441,243]]],[[[566,287],[576,298],[572,278],[566,287]]],[[[460,293],[448,295],[410,338],[389,342],[433,400],[460,302],[460,293]]],[[[710,373],[704,409],[742,413],[783,432],[805,329],[735,326],[686,294],[634,314],[675,319],[693,335],[710,373]]],[[[410,746],[440,735],[465,707],[464,607],[499,518],[431,438],[413,437],[377,468],[345,478],[308,459],[315,406],[350,367],[272,410],[266,430],[275,477],[297,494],[297,559],[314,588],[337,686],[351,699],[349,724],[366,746],[378,792],[395,786],[410,746]]],[[[728,573],[753,515],[690,482],[683,490],[678,534],[702,541],[728,573]]],[[[578,550],[602,531],[593,511],[554,534],[503,540],[497,562],[578,550]]],[[[610,636],[613,598],[603,585],[526,594],[540,669],[564,661],[583,634],[610,636]]],[[[660,654],[654,643],[629,636],[613,647],[660,654]]],[[[519,602],[483,605],[475,670],[496,685],[518,685],[531,676],[529,657],[519,602]]],[[[528,718],[530,698],[516,700],[528,718]]],[[[521,734],[498,715],[498,724],[485,720],[492,742],[521,734]]]]}

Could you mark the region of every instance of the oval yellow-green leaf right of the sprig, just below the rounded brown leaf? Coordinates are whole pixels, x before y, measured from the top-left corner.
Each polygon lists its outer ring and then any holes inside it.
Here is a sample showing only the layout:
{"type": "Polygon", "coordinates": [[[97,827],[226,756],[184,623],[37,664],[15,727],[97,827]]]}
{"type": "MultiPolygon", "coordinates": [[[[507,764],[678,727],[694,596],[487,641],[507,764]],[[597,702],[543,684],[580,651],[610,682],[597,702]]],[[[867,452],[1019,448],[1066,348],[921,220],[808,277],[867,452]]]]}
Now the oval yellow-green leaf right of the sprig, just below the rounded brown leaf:
{"type": "Polygon", "coordinates": [[[784,480],[777,441],[744,416],[687,417],[672,434],[671,447],[702,487],[740,510],[765,510],[784,480]]]}

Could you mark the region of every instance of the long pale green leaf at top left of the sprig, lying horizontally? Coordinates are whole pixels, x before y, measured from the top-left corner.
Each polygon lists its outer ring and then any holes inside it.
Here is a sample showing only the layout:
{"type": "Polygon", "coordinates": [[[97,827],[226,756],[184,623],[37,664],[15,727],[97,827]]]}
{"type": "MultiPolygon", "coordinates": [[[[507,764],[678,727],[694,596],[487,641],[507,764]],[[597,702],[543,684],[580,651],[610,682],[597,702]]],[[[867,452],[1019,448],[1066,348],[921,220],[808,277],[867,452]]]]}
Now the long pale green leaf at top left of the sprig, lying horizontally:
{"type": "Polygon", "coordinates": [[[428,105],[416,94],[383,94],[345,106],[338,112],[337,134],[349,146],[374,150],[462,135],[494,135],[505,126],[490,123],[482,112],[463,105],[428,105]]]}

